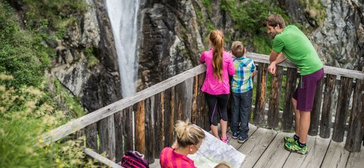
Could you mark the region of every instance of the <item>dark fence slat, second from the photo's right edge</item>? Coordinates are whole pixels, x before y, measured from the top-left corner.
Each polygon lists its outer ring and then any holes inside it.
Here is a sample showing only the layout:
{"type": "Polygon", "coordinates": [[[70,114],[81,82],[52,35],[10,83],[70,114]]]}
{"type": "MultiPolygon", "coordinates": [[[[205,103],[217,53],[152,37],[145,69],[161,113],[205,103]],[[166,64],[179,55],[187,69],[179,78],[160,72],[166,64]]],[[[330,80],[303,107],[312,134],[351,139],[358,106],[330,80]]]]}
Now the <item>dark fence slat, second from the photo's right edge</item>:
{"type": "Polygon", "coordinates": [[[334,132],[332,140],[335,142],[343,142],[346,119],[348,118],[348,108],[351,95],[352,78],[341,77],[341,85],[336,106],[334,132]]]}

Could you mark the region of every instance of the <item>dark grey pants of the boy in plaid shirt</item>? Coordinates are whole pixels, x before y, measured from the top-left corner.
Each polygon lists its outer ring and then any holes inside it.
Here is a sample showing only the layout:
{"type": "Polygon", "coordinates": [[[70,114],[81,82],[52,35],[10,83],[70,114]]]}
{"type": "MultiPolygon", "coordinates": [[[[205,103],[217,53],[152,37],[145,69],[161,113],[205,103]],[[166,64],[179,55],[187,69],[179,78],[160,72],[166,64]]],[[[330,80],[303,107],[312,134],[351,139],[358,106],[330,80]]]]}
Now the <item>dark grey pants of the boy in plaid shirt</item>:
{"type": "Polygon", "coordinates": [[[230,128],[235,133],[239,131],[239,136],[247,138],[249,132],[249,112],[251,109],[251,97],[253,90],[247,92],[232,92],[232,125],[230,128]]]}

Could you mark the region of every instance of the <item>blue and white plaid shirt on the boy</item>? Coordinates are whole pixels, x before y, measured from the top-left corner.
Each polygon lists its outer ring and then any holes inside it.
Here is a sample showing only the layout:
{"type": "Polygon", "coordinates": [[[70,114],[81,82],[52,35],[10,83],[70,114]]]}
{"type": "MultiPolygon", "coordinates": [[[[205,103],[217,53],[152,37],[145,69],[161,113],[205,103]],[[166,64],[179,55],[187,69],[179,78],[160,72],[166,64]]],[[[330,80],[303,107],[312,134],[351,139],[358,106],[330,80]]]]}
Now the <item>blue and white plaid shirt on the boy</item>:
{"type": "Polygon", "coordinates": [[[235,74],[232,78],[232,92],[247,92],[253,88],[251,74],[256,71],[253,59],[241,56],[233,58],[235,74]]]}

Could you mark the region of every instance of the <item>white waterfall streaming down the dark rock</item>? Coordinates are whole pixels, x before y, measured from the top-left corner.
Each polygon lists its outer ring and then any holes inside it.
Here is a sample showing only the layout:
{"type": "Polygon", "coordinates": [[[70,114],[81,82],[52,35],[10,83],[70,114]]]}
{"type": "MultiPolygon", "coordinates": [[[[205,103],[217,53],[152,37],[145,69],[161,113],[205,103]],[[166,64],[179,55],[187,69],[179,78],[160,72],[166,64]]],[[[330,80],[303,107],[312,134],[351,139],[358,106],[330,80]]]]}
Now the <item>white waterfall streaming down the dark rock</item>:
{"type": "Polygon", "coordinates": [[[108,16],[118,54],[123,97],[136,91],[137,81],[137,13],[140,0],[106,0],[108,16]]]}

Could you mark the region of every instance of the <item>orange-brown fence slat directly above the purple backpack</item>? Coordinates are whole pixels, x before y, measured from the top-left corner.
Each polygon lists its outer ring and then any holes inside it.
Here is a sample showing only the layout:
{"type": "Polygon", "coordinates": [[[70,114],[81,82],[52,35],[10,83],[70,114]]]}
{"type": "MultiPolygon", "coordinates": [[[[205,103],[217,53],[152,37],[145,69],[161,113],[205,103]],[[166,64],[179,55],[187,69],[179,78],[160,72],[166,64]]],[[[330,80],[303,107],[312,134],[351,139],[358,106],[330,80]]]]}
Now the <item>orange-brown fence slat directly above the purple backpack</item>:
{"type": "Polygon", "coordinates": [[[145,154],[145,101],[138,103],[135,120],[135,150],[145,154]]]}

